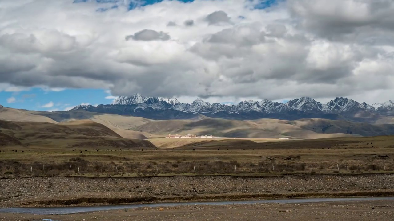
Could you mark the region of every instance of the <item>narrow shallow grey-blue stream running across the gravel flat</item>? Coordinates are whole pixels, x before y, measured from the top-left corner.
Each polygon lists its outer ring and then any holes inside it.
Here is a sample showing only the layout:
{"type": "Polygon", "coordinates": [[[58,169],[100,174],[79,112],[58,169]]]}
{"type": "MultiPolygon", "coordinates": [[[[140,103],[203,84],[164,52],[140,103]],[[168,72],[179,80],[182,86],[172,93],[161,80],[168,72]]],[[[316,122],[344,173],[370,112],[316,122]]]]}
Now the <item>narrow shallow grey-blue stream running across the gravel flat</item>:
{"type": "Polygon", "coordinates": [[[263,199],[246,201],[212,201],[212,202],[181,202],[181,203],[144,203],[144,204],[122,204],[105,206],[74,206],[53,208],[2,208],[0,213],[22,213],[22,214],[74,214],[83,212],[94,212],[102,210],[122,210],[141,207],[164,207],[164,206],[190,206],[190,205],[230,205],[230,204],[255,204],[255,203],[318,203],[333,201],[370,201],[370,200],[394,200],[394,197],[344,197],[344,198],[304,198],[304,199],[263,199]]]}

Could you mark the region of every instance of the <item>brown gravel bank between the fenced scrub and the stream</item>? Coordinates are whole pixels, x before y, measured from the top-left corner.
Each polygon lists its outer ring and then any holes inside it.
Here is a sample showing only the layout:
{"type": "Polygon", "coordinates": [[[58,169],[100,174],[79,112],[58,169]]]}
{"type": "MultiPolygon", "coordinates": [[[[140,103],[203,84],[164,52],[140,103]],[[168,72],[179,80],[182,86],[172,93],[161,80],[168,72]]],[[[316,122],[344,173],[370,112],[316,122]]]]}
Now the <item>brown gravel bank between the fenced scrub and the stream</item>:
{"type": "Polygon", "coordinates": [[[393,195],[394,175],[0,179],[0,206],[393,195]]]}

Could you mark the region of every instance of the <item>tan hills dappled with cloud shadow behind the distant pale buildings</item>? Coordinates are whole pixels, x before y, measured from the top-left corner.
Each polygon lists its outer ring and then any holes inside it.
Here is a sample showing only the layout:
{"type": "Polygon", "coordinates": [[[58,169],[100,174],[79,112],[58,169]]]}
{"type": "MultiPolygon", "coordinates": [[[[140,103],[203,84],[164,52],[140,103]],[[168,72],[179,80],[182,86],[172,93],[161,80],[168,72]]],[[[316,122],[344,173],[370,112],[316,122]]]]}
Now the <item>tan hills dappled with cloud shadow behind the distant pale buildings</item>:
{"type": "Polygon", "coordinates": [[[393,124],[354,123],[340,120],[301,119],[296,121],[259,119],[251,121],[207,118],[198,121],[152,121],[130,128],[151,134],[212,134],[221,137],[315,139],[341,136],[394,134],[393,124]]]}

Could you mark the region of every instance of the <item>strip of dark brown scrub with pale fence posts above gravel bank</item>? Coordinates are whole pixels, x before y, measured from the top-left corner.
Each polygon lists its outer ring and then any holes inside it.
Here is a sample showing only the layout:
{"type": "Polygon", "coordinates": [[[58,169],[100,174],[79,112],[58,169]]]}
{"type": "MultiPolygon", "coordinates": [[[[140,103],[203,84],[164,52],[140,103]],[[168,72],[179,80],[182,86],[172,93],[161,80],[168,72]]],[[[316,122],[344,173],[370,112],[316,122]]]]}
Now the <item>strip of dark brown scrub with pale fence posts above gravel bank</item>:
{"type": "Polygon", "coordinates": [[[80,157],[56,163],[31,164],[13,160],[0,161],[2,175],[56,176],[56,175],[158,175],[158,174],[236,174],[236,173],[360,173],[393,171],[394,160],[347,160],[317,162],[260,162],[182,161],[174,162],[89,162],[80,157]]]}

